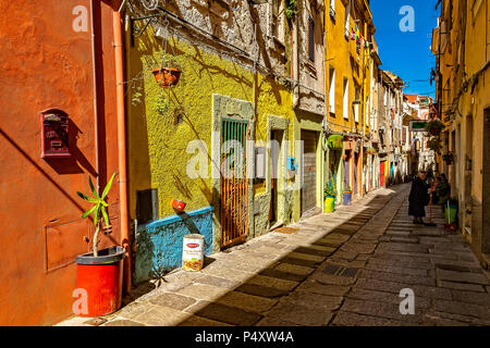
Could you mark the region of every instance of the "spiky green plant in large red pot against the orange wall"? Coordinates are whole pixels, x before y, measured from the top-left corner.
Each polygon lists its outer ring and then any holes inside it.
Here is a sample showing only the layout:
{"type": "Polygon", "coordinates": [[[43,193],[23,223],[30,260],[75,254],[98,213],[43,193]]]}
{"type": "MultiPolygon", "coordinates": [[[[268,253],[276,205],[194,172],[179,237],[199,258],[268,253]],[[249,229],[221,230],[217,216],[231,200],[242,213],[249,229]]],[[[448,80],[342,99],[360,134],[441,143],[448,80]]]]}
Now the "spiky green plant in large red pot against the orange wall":
{"type": "Polygon", "coordinates": [[[102,195],[98,195],[94,187],[91,177],[88,176],[88,184],[94,197],[77,191],[76,194],[84,200],[90,202],[93,207],[83,213],[86,219],[93,215],[94,219],[94,239],[91,252],[76,257],[76,288],[86,294],[85,310],[75,313],[78,316],[100,316],[115,312],[121,307],[122,298],[122,260],[126,250],[120,246],[113,246],[98,250],[99,234],[102,223],[106,228],[110,226],[109,216],[106,208],[106,197],[112,186],[117,173],[103,188],[102,195]]]}

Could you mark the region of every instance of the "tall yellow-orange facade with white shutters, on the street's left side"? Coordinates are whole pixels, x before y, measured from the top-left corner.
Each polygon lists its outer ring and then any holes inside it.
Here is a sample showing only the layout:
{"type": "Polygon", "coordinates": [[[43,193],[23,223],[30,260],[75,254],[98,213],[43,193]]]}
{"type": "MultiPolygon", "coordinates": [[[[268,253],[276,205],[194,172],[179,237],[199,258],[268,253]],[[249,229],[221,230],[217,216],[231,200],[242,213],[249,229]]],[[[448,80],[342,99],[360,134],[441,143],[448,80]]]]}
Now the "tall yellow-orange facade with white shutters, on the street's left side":
{"type": "MultiPolygon", "coordinates": [[[[360,141],[360,154],[357,163],[354,156],[350,161],[348,185],[354,185],[354,170],[357,167],[357,192],[364,194],[363,170],[367,165],[364,146],[367,146],[369,128],[369,95],[371,57],[370,48],[363,45],[365,41],[372,42],[375,26],[369,5],[365,0],[334,1],[334,17],[332,12],[327,11],[326,18],[326,85],[328,123],[333,134],[353,136],[350,139],[360,141]],[[360,47],[356,39],[362,37],[360,47]],[[346,96],[344,90],[346,90],[346,96]],[[357,109],[357,111],[356,111],[357,109]],[[356,116],[357,114],[357,116],[356,116]]],[[[370,46],[369,46],[370,47],[370,46]]],[[[346,138],[348,139],[348,138],[346,138]]],[[[346,145],[352,149],[355,142],[346,145]]],[[[343,154],[345,151],[343,152],[343,154]]],[[[336,174],[338,182],[343,182],[342,161],[341,171],[336,174]]],[[[372,164],[371,164],[372,165],[372,164]]],[[[347,186],[338,185],[339,195],[347,186]]]]}

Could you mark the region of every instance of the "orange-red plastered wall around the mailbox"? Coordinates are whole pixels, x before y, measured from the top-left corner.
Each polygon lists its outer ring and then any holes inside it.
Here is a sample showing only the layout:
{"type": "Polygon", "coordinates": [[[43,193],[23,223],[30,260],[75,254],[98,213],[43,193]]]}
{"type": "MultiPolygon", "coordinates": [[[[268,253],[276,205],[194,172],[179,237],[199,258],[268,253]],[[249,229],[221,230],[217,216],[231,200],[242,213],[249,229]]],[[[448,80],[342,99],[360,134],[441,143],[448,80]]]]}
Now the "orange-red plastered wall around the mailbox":
{"type": "MultiPolygon", "coordinates": [[[[112,9],[96,2],[103,185],[118,166],[114,55],[112,9]]],[[[69,316],[73,261],[88,247],[90,224],[81,221],[87,206],[76,190],[87,191],[87,174],[97,173],[90,18],[88,32],[75,33],[75,5],[89,10],[88,0],[0,2],[0,325],[69,316]],[[50,108],[65,111],[76,128],[72,160],[40,159],[39,112],[50,108]]],[[[114,232],[105,245],[119,241],[118,185],[109,195],[114,232]]]]}

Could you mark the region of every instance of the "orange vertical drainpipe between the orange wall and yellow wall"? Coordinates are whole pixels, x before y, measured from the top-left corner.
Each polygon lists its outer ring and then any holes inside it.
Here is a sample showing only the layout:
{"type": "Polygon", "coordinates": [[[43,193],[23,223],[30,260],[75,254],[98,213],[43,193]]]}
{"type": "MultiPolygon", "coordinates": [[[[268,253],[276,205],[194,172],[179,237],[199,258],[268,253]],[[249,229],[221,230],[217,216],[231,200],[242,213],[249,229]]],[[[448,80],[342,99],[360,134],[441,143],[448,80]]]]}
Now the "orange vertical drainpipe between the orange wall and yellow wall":
{"type": "Polygon", "coordinates": [[[121,216],[121,245],[126,249],[124,258],[124,285],[126,293],[131,290],[131,247],[127,221],[127,173],[126,173],[126,129],[124,116],[124,67],[121,13],[113,13],[114,57],[115,57],[115,97],[118,112],[118,161],[119,161],[119,199],[121,216]]]}

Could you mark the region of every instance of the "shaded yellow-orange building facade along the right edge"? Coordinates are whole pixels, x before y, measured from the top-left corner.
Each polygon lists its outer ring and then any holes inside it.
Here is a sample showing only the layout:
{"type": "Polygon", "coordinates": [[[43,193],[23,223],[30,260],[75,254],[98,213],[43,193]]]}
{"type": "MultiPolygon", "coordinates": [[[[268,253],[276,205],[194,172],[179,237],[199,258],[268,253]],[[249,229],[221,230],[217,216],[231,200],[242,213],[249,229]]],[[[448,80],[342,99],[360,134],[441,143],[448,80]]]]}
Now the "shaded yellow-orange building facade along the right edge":
{"type": "Polygon", "coordinates": [[[446,124],[443,153],[454,163],[443,164],[452,196],[460,206],[461,233],[488,265],[490,253],[488,166],[490,142],[490,78],[488,1],[442,1],[432,51],[440,54],[438,102],[446,124]],[[487,256],[486,256],[487,254],[487,256]]]}

